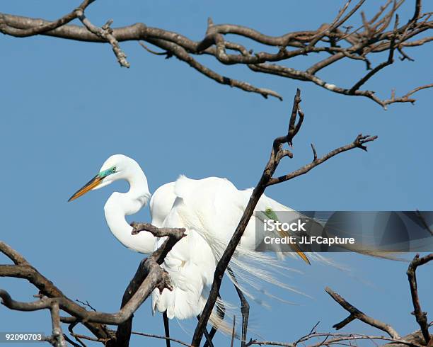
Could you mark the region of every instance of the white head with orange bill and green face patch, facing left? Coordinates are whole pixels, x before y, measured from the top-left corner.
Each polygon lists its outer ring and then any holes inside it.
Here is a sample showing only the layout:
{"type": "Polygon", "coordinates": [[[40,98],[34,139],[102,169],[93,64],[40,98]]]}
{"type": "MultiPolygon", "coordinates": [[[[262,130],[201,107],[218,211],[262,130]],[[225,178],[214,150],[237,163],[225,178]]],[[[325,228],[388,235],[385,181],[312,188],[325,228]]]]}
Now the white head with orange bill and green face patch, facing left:
{"type": "Polygon", "coordinates": [[[86,194],[89,190],[96,190],[110,183],[127,177],[127,172],[131,166],[131,159],[123,154],[115,154],[105,160],[103,166],[100,167],[99,173],[96,174],[88,183],[77,190],[68,201],[75,200],[81,195],[86,194]]]}

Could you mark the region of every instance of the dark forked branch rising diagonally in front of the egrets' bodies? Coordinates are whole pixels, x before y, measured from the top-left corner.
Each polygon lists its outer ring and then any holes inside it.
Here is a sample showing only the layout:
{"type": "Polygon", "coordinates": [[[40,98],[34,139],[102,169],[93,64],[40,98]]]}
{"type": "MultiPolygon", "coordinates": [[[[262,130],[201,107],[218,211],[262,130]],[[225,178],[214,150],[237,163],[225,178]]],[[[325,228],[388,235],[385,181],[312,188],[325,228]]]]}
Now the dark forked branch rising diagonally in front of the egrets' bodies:
{"type": "Polygon", "coordinates": [[[214,308],[215,302],[217,300],[219,289],[221,287],[221,281],[226,271],[227,266],[229,266],[229,262],[231,257],[236,250],[236,246],[238,246],[239,241],[243,235],[243,232],[250,220],[250,217],[253,215],[255,206],[260,199],[262,193],[265,192],[267,186],[272,184],[280,183],[283,181],[288,181],[289,179],[295,178],[306,172],[313,169],[313,167],[318,166],[323,163],[323,161],[328,160],[330,157],[333,157],[341,152],[345,152],[354,148],[361,148],[366,150],[364,143],[376,140],[376,137],[365,137],[362,135],[358,135],[357,138],[352,142],[352,144],[347,144],[344,147],[340,147],[339,149],[335,149],[333,152],[326,154],[321,159],[317,159],[313,161],[311,164],[306,164],[302,168],[293,171],[291,174],[281,176],[279,178],[273,178],[272,175],[275,173],[279,161],[283,157],[293,157],[293,154],[288,149],[283,149],[283,144],[286,143],[291,145],[293,138],[299,132],[299,129],[302,124],[302,120],[304,119],[304,113],[299,108],[299,103],[301,102],[301,91],[298,89],[296,91],[296,96],[294,97],[294,104],[291,110],[291,116],[289,120],[289,129],[287,130],[287,135],[277,137],[274,140],[272,145],[272,150],[270,154],[270,159],[265,166],[265,170],[263,171],[260,180],[258,181],[257,186],[255,186],[253,193],[251,194],[250,200],[248,201],[248,205],[246,206],[243,215],[241,217],[241,221],[236,227],[233,236],[231,237],[229,244],[224,250],[224,254],[221,256],[217,263],[217,269],[214,273],[214,281],[212,283],[212,289],[209,292],[209,297],[207,299],[206,305],[204,306],[202,314],[200,314],[199,322],[195,328],[194,336],[192,337],[192,346],[200,346],[200,341],[202,340],[202,335],[204,333],[204,329],[206,328],[207,321],[209,320],[212,309],[214,308]],[[299,119],[297,119],[299,117],[299,119]],[[297,120],[297,121],[296,121],[297,120]]]}

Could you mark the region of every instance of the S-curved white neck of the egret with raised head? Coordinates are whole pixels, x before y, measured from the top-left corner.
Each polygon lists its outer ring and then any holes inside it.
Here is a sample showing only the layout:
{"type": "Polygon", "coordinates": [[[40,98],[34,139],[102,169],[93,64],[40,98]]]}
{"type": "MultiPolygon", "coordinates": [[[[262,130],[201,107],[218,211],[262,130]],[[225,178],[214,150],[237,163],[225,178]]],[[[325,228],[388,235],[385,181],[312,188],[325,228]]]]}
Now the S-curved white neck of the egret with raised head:
{"type": "Polygon", "coordinates": [[[134,251],[149,254],[154,251],[154,236],[149,232],[132,235],[132,227],[125,220],[125,215],[138,212],[147,204],[151,196],[146,176],[138,164],[136,166],[125,174],[124,178],[129,183],[127,193],[112,193],[105,203],[105,220],[120,243],[134,251]]]}

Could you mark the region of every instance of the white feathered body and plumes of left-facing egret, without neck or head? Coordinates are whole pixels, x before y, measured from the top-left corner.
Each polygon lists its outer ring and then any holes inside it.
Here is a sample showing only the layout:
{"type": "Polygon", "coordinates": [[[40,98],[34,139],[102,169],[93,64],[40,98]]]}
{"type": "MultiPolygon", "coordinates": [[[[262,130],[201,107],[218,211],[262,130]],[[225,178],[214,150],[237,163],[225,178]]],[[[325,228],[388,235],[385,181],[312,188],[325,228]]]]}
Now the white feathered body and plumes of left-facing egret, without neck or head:
{"type": "MultiPolygon", "coordinates": [[[[241,220],[252,191],[238,190],[230,181],[217,177],[193,180],[180,176],[175,183],[167,183],[158,188],[151,201],[152,223],[160,222],[165,213],[163,223],[156,226],[185,227],[187,237],[173,247],[162,265],[171,275],[174,289],[173,292],[163,290],[162,295],[158,290],[154,291],[154,311],[167,311],[168,317],[178,319],[193,317],[202,312],[216,263],[241,220]],[[158,207],[160,204],[164,206],[158,207]],[[171,206],[169,212],[167,206],[171,206]]],[[[270,203],[267,199],[269,198],[264,195],[257,209],[277,207],[267,206],[270,203]]],[[[248,297],[263,304],[247,290],[246,285],[271,297],[261,288],[258,280],[289,290],[293,288],[276,279],[277,273],[282,269],[291,269],[282,266],[275,256],[255,251],[256,246],[262,242],[260,234],[256,237],[256,222],[261,221],[256,220],[255,216],[251,217],[235,256],[231,259],[230,267],[237,281],[229,273],[228,275],[248,297]]],[[[162,242],[163,239],[159,239],[156,247],[161,246],[162,242]]]]}

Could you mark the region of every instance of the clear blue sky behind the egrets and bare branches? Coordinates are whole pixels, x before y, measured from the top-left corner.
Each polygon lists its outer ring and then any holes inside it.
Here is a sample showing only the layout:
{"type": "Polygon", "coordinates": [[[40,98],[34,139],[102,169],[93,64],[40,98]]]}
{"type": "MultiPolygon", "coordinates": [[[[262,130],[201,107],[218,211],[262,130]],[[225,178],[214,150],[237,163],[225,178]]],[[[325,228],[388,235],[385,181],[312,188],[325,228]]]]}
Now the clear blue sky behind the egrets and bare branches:
{"type": "MultiPolygon", "coordinates": [[[[409,1],[410,2],[410,1],[409,1]]],[[[318,28],[330,22],[342,1],[96,1],[88,18],[113,26],[144,22],[200,40],[208,16],[215,23],[248,25],[269,35],[318,28]]],[[[78,2],[76,3],[78,4],[78,2]]],[[[374,13],[370,2],[366,13],[374,13]]],[[[376,4],[377,5],[377,4],[376,4]]],[[[58,18],[74,4],[59,1],[2,1],[0,11],[23,16],[58,18]]],[[[433,11],[426,1],[425,11],[433,11]],[[428,8],[430,7],[430,8],[428,8]]],[[[401,23],[412,16],[402,7],[401,23]]],[[[359,18],[357,18],[358,20],[359,18]]],[[[111,154],[127,154],[144,169],[151,191],[179,174],[192,178],[221,176],[238,188],[254,186],[267,161],[272,140],[284,134],[296,87],[302,90],[304,126],[294,143],[294,159],[278,172],[311,160],[310,143],[318,155],[351,142],[359,132],[379,135],[369,152],[354,150],[319,166],[306,176],[273,186],[267,195],[297,210],[432,210],[431,171],[432,90],[417,93],[417,103],[396,104],[383,110],[366,98],[341,96],[312,84],[254,74],[244,67],[222,67],[209,57],[202,62],[218,72],[278,91],[284,101],[245,93],[216,84],[175,58],[150,55],[137,42],[122,43],[132,64],[121,69],[108,45],[55,38],[17,39],[1,36],[0,145],[3,169],[0,239],[21,252],[72,299],[88,300],[100,311],[114,312],[134,274],[140,254],[122,247],[110,234],[103,204],[113,190],[89,193],[74,203],[67,199],[86,183],[111,154]]],[[[431,82],[432,46],[408,53],[415,62],[387,67],[366,84],[382,98],[391,89],[406,93],[431,82]]],[[[289,66],[306,67],[316,57],[296,59],[289,66]]],[[[375,62],[385,59],[376,57],[375,62]]],[[[364,74],[362,62],[341,62],[319,76],[329,83],[350,86],[364,74]]],[[[131,220],[148,221],[144,209],[131,220]]],[[[412,311],[407,263],[331,254],[349,268],[288,262],[303,275],[288,283],[313,299],[291,292],[274,292],[298,305],[270,302],[271,309],[252,304],[251,325],[263,339],[293,341],[316,322],[319,330],[346,317],[328,297],[329,285],[371,316],[392,324],[401,334],[417,329],[412,311]]],[[[6,258],[1,257],[1,263],[6,258]]],[[[431,266],[419,271],[422,308],[433,311],[431,266]]],[[[23,280],[0,280],[0,287],[17,300],[32,300],[35,289],[23,280]]],[[[236,302],[224,285],[223,296],[236,302]]],[[[50,332],[48,312],[11,312],[0,307],[2,331],[50,332]]],[[[195,322],[174,337],[190,341],[195,322]]],[[[151,317],[149,302],[137,312],[134,330],[163,334],[161,315],[151,317]]],[[[85,331],[85,330],[83,330],[85,331]]],[[[375,333],[352,322],[345,331],[375,333]]],[[[252,337],[254,337],[252,335],[252,337]]],[[[163,341],[134,338],[133,346],[163,341]]],[[[225,336],[216,341],[228,344],[225,336]]]]}

